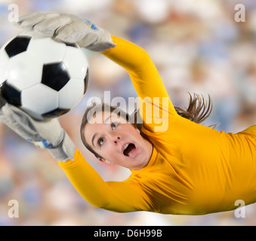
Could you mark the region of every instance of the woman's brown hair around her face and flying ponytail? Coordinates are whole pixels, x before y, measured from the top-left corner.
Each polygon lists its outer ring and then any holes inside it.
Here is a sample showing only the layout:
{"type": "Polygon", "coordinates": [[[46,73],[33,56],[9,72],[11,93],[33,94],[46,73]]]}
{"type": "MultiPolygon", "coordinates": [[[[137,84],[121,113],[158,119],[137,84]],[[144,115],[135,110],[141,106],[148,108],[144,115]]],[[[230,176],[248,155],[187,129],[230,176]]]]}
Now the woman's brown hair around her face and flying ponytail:
{"type": "MultiPolygon", "coordinates": [[[[208,95],[208,102],[207,102],[205,100],[205,97],[202,95],[199,95],[196,93],[194,93],[193,96],[190,93],[189,93],[189,95],[190,95],[190,99],[189,99],[189,105],[188,105],[187,109],[174,107],[175,111],[181,117],[187,118],[190,121],[200,124],[203,121],[205,121],[211,114],[211,111],[212,111],[211,96],[208,95]]],[[[101,102],[100,104],[97,104],[96,102],[94,102],[93,105],[89,106],[85,110],[85,114],[82,117],[82,124],[80,127],[80,135],[81,135],[81,139],[82,139],[82,142],[85,145],[85,147],[88,149],[88,151],[91,151],[95,155],[95,157],[100,157],[100,155],[97,154],[97,152],[95,152],[91,148],[91,146],[88,145],[88,143],[85,141],[85,134],[84,134],[85,126],[91,120],[91,117],[94,116],[94,114],[96,114],[97,112],[103,112],[106,110],[110,111],[111,113],[113,111],[116,112],[116,110],[117,110],[117,112],[119,113],[119,116],[124,117],[127,121],[134,120],[134,123],[131,123],[131,124],[138,130],[141,130],[141,126],[142,126],[141,119],[140,119],[140,121],[137,119],[137,118],[140,118],[140,115],[138,113],[138,111],[139,111],[138,108],[136,108],[135,111],[131,115],[129,115],[125,111],[122,111],[121,108],[111,106],[111,105],[108,105],[103,102],[101,102]]],[[[216,127],[216,125],[213,125],[212,127],[216,127]]],[[[141,136],[143,136],[143,138],[147,139],[147,136],[144,135],[141,131],[140,131],[140,134],[141,134],[141,136]]],[[[103,157],[100,157],[100,158],[103,158],[103,157]]]]}

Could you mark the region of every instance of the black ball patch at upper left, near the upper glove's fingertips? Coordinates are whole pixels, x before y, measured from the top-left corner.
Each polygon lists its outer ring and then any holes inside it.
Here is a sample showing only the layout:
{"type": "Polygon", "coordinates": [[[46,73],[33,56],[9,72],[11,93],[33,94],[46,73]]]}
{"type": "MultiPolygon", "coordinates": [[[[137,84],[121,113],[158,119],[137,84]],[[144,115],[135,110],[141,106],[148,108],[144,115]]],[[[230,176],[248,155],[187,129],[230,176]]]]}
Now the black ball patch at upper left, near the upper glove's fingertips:
{"type": "Polygon", "coordinates": [[[19,53],[26,51],[27,47],[29,46],[30,39],[31,38],[25,36],[18,36],[17,38],[12,39],[5,46],[5,51],[8,56],[11,58],[19,53]]]}

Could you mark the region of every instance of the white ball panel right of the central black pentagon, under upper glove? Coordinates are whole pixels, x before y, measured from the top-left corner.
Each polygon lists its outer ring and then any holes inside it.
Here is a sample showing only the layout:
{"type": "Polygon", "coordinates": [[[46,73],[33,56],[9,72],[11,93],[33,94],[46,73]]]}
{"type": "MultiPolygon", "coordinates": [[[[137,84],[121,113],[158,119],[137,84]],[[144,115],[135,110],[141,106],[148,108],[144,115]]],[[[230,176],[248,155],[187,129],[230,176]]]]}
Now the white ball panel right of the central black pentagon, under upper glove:
{"type": "Polygon", "coordinates": [[[63,58],[71,78],[85,78],[88,68],[88,60],[80,47],[66,47],[63,58]]]}

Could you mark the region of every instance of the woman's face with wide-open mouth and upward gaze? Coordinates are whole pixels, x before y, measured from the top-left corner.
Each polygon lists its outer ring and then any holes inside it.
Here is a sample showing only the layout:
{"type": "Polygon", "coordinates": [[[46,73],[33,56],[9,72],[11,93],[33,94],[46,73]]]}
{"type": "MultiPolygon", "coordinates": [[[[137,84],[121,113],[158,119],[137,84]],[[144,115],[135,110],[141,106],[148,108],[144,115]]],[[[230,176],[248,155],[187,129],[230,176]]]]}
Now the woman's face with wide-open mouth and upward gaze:
{"type": "Polygon", "coordinates": [[[109,111],[94,116],[85,126],[85,141],[104,163],[139,170],[150,160],[153,145],[140,135],[140,130],[109,111]]]}

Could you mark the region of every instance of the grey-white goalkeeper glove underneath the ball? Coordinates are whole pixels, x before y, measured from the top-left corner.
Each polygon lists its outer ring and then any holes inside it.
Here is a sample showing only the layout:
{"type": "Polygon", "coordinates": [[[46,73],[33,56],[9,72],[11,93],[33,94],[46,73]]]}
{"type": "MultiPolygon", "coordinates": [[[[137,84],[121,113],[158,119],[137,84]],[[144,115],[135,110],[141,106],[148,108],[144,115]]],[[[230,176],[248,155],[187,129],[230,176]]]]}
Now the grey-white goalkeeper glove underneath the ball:
{"type": "Polygon", "coordinates": [[[0,120],[37,148],[48,149],[54,159],[73,160],[75,145],[57,118],[36,121],[20,108],[8,104],[0,92],[0,120]]]}

